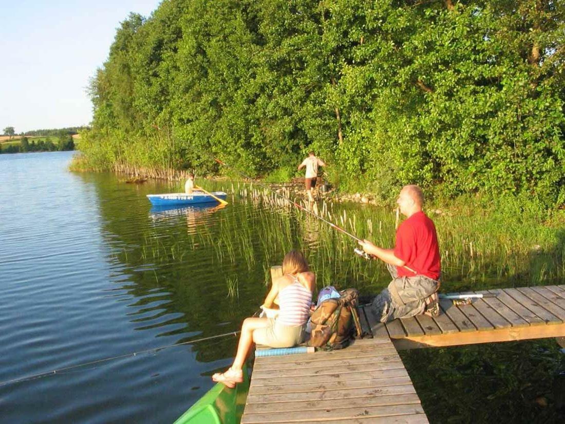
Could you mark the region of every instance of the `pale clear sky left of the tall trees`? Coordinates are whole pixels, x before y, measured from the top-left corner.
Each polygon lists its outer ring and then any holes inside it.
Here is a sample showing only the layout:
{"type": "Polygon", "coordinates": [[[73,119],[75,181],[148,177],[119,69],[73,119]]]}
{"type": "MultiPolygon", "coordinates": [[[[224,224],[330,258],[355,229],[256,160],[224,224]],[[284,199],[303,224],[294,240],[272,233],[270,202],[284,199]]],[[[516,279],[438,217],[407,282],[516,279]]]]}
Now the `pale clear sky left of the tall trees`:
{"type": "Polygon", "coordinates": [[[0,0],[0,133],[86,125],[85,88],[129,12],[159,0],[0,0]]]}

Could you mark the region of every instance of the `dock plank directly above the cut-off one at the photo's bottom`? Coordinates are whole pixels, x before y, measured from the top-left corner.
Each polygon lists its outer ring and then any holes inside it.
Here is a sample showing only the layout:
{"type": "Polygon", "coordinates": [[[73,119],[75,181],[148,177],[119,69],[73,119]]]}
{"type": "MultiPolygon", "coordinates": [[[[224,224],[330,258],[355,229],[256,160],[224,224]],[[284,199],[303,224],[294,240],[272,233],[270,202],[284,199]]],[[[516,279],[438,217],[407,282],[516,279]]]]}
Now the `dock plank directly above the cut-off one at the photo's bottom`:
{"type": "Polygon", "coordinates": [[[241,424],[251,423],[280,423],[284,422],[318,422],[331,419],[347,419],[363,417],[393,417],[407,414],[423,413],[421,405],[390,405],[390,406],[367,406],[366,408],[343,408],[343,409],[314,409],[305,414],[302,411],[286,411],[284,414],[244,414],[241,424]]]}

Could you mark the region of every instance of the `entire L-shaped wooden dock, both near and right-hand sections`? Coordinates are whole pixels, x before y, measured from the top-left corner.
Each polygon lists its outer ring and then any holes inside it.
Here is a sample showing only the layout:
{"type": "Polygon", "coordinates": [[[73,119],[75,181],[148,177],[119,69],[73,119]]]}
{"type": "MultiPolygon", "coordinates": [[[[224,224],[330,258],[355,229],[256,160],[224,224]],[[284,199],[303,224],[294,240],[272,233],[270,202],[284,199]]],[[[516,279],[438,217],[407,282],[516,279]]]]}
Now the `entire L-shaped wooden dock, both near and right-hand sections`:
{"type": "Polygon", "coordinates": [[[372,339],[341,351],[256,358],[241,423],[427,423],[397,349],[565,336],[565,285],[463,293],[496,297],[461,306],[441,300],[439,317],[386,324],[367,305],[360,319],[372,339]]]}

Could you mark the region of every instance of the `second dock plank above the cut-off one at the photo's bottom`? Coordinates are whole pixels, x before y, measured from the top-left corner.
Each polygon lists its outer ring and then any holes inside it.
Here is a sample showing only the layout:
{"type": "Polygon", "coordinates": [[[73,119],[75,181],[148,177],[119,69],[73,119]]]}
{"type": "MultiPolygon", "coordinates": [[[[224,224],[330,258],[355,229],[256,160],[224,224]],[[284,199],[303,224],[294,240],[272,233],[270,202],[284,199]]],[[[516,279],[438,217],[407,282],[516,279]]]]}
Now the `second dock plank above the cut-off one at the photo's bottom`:
{"type": "Polygon", "coordinates": [[[388,406],[388,405],[411,405],[420,404],[420,399],[416,393],[408,395],[389,395],[375,396],[374,390],[366,390],[366,394],[360,397],[349,397],[347,399],[328,399],[328,400],[310,400],[289,399],[286,402],[272,403],[265,401],[264,403],[246,404],[246,414],[265,414],[265,413],[281,413],[292,411],[304,411],[309,413],[312,409],[329,409],[329,408],[367,408],[367,406],[388,406]]]}

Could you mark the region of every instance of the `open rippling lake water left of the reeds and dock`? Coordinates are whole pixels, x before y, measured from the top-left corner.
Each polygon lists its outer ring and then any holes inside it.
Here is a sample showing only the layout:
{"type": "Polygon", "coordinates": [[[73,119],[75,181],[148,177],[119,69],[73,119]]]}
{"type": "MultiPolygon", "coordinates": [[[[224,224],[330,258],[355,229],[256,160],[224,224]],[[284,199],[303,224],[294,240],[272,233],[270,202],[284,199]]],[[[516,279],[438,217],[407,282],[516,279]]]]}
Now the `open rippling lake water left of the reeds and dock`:
{"type": "MultiPolygon", "coordinates": [[[[194,226],[217,231],[224,211],[152,213],[145,194],[172,187],[73,174],[71,155],[0,155],[0,382],[236,330],[263,296],[263,269],[247,272],[233,301],[233,270],[210,246],[169,263],[140,257],[140,246],[182,243],[194,226]]],[[[172,422],[233,347],[228,338],[6,384],[0,419],[172,422]]]]}

